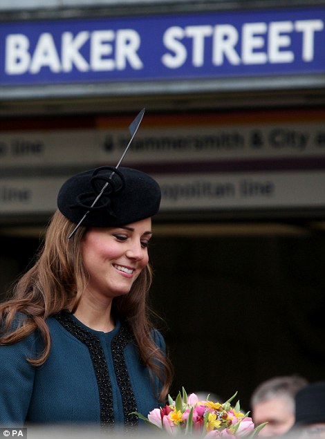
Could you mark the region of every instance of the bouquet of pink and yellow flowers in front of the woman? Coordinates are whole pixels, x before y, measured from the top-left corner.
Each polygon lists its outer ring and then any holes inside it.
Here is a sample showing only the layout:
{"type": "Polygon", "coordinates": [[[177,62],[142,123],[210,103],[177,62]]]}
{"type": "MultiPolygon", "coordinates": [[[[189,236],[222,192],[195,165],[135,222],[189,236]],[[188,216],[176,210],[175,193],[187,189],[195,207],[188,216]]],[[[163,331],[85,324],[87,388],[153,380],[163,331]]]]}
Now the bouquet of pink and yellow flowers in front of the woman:
{"type": "Polygon", "coordinates": [[[147,424],[157,427],[167,434],[176,436],[180,434],[196,433],[205,439],[236,438],[256,436],[265,424],[255,428],[249,413],[242,413],[239,402],[233,408],[230,404],[235,398],[235,393],[228,401],[212,402],[209,395],[206,400],[199,401],[195,393],[187,396],[185,389],[178,393],[176,400],[168,395],[165,407],[152,410],[145,418],[141,413],[138,417],[147,424]]]}

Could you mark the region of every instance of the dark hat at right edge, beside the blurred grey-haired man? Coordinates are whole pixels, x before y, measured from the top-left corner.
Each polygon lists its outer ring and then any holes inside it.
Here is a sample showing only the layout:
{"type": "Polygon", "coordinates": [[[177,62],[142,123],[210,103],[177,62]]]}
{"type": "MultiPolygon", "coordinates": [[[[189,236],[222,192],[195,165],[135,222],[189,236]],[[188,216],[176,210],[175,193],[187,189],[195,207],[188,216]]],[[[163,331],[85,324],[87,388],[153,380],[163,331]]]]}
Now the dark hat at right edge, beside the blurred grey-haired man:
{"type": "Polygon", "coordinates": [[[313,382],[295,396],[295,426],[325,422],[325,381],[313,382]]]}

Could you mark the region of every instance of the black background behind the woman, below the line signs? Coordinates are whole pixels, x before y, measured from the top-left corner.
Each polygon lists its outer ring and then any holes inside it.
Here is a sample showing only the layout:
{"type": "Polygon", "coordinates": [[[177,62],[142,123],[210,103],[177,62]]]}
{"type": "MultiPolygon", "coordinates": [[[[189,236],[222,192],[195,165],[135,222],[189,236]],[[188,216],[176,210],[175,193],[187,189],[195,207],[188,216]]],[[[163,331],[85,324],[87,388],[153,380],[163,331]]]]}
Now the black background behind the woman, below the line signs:
{"type": "MultiPolygon", "coordinates": [[[[4,292],[32,262],[40,239],[2,236],[0,243],[4,292]]],[[[238,391],[249,410],[262,380],[325,379],[324,233],[158,233],[149,252],[151,302],[165,321],[158,324],[175,369],[171,395],[182,386],[224,400],[238,391]]]]}

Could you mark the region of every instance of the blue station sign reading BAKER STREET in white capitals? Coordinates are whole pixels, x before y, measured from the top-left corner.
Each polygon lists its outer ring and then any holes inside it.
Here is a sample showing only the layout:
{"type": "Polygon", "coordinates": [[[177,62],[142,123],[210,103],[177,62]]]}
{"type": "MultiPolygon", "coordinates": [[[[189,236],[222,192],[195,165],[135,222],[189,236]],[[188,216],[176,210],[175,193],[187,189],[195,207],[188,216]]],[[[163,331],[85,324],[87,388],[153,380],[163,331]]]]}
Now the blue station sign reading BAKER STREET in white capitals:
{"type": "Polygon", "coordinates": [[[0,23],[0,86],[325,72],[325,8],[0,23]]]}

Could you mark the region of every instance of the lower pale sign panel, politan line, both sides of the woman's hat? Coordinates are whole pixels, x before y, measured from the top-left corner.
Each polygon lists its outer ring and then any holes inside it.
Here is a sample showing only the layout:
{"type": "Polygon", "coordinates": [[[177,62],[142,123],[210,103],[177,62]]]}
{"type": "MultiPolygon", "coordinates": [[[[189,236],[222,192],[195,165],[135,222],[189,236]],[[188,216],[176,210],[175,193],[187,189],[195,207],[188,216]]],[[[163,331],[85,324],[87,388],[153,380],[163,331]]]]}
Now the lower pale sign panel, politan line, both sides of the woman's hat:
{"type": "MultiPolygon", "coordinates": [[[[325,207],[325,173],[236,173],[156,175],[163,198],[161,212],[246,208],[325,207]]],[[[48,214],[68,178],[0,180],[2,214],[48,214]]]]}

